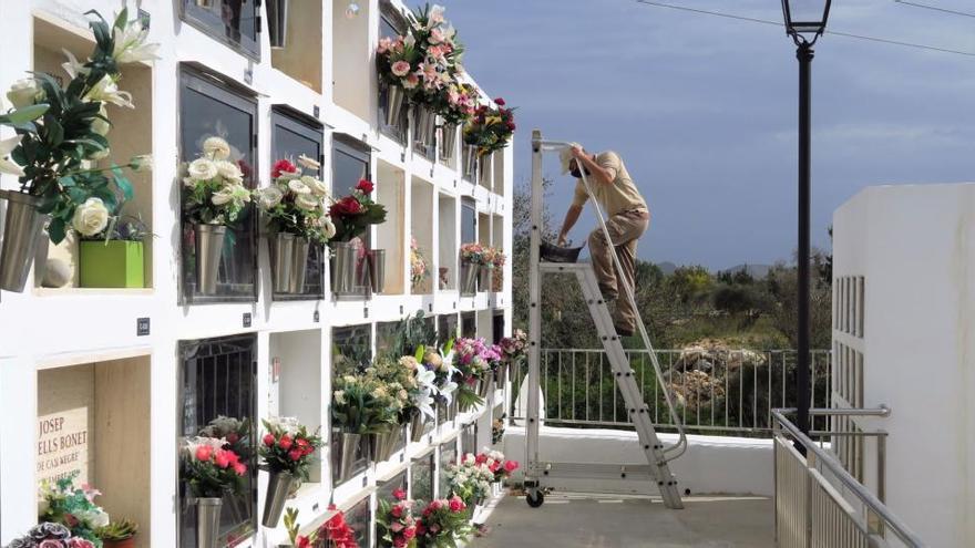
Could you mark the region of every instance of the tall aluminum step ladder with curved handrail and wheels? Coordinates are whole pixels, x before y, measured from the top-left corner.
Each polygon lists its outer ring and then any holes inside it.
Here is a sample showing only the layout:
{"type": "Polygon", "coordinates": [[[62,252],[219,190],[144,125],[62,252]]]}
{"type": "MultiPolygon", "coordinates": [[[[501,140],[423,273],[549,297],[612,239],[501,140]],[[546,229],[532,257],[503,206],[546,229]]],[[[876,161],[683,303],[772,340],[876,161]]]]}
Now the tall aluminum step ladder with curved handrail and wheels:
{"type": "MultiPolygon", "coordinates": [[[[599,290],[596,273],[591,263],[565,263],[565,262],[543,262],[541,260],[540,246],[542,244],[542,200],[543,200],[543,183],[542,183],[542,154],[544,152],[562,151],[568,146],[568,143],[543,141],[540,131],[535,130],[532,134],[532,234],[531,234],[531,265],[530,265],[530,320],[528,320],[528,390],[527,390],[527,413],[526,413],[526,466],[525,466],[525,490],[527,494],[527,503],[532,507],[541,506],[544,502],[545,482],[550,478],[647,478],[656,483],[664,505],[668,508],[682,508],[680,500],[680,492],[677,488],[677,479],[670,473],[667,464],[669,461],[680,456],[687,448],[687,436],[684,432],[684,425],[674,407],[667,384],[664,381],[660,365],[654,353],[649,335],[644,325],[643,318],[639,317],[637,310],[637,328],[646,349],[649,351],[650,362],[654,366],[657,382],[667,402],[667,407],[673,423],[677,426],[679,438],[671,446],[665,446],[654,427],[653,414],[643,399],[643,392],[637,384],[637,376],[629,364],[629,359],[623,348],[622,340],[616,333],[613,324],[613,317],[606,306],[603,294],[599,290]],[[639,438],[640,448],[647,458],[646,465],[639,464],[589,464],[589,463],[555,463],[543,462],[538,458],[540,446],[540,395],[541,395],[541,343],[542,343],[542,302],[541,287],[542,278],[546,273],[572,273],[578,280],[583,291],[583,297],[589,309],[589,314],[596,327],[596,332],[606,351],[612,373],[616,380],[616,386],[623,395],[629,418],[636,428],[639,438]]],[[[609,239],[606,223],[599,205],[593,198],[592,190],[585,174],[583,175],[583,184],[589,194],[591,201],[596,210],[596,217],[603,232],[609,239]]],[[[619,269],[619,258],[614,251],[614,261],[617,270],[619,269]]],[[[624,291],[620,297],[634,301],[633,288],[629,283],[620,279],[620,286],[624,291]]],[[[634,307],[636,308],[636,307],[634,307]]]]}

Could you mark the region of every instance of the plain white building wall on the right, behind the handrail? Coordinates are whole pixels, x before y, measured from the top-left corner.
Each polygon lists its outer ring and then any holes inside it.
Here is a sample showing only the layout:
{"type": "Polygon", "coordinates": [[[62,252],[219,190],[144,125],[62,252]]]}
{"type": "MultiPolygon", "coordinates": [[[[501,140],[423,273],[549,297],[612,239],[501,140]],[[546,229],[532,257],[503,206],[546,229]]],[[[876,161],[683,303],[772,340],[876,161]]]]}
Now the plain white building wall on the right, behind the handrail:
{"type": "MultiPolygon", "coordinates": [[[[863,423],[890,433],[886,503],[930,546],[975,546],[975,184],[861,192],[833,217],[833,261],[838,297],[864,279],[862,337],[834,310],[833,342],[863,354],[863,405],[892,410],[863,423]]],[[[873,489],[876,462],[868,444],[873,489]]]]}

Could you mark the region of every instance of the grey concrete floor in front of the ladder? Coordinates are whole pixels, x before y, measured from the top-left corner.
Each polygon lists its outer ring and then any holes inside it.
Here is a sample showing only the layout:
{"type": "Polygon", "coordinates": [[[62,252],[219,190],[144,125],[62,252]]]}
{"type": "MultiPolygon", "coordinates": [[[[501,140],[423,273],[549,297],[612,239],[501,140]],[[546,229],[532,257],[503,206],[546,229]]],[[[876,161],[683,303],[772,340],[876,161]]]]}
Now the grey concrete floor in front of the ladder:
{"type": "Polygon", "coordinates": [[[490,530],[470,548],[773,547],[772,500],[687,497],[682,510],[659,498],[550,494],[540,508],[507,496],[485,519],[490,530]]]}

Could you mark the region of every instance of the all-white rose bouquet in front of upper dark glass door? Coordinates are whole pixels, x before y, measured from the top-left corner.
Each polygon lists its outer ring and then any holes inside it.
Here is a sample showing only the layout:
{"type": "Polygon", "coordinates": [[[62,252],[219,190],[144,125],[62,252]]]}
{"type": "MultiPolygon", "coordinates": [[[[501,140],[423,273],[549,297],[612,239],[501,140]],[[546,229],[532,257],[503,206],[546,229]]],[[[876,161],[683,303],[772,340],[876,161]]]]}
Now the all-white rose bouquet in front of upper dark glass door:
{"type": "Polygon", "coordinates": [[[244,161],[230,159],[230,145],[222,137],[203,142],[203,154],[185,165],[183,177],[183,213],[192,225],[236,224],[250,203],[250,190],[244,185],[244,161]]]}

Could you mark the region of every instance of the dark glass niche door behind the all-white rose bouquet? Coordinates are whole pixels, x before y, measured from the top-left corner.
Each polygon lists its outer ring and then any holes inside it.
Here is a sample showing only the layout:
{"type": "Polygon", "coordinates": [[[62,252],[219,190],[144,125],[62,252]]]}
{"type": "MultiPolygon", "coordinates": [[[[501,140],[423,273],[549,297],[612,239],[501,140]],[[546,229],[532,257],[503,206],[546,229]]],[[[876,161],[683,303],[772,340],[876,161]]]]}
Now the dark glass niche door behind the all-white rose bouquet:
{"type": "MultiPolygon", "coordinates": [[[[244,175],[244,185],[254,188],[258,169],[256,157],[257,101],[237,89],[220,85],[212,77],[191,69],[181,73],[179,85],[179,179],[186,164],[203,154],[209,137],[220,137],[230,145],[229,161],[244,175]]],[[[179,185],[181,192],[184,187],[179,185]]],[[[182,201],[182,199],[181,199],[182,201]]],[[[192,224],[183,225],[183,298],[189,303],[257,300],[257,215],[249,204],[227,227],[220,250],[216,291],[203,294],[196,280],[196,234],[192,224]]]]}

